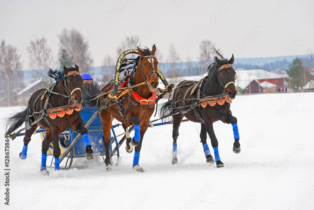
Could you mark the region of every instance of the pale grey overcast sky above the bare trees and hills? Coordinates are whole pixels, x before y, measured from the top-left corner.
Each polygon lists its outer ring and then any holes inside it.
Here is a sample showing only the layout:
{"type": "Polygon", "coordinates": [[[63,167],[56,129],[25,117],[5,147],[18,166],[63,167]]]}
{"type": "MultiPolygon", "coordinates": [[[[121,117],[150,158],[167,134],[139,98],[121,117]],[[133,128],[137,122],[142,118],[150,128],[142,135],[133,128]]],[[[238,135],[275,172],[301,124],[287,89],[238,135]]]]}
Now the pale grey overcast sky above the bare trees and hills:
{"type": "MultiPolygon", "coordinates": [[[[163,61],[171,43],[182,61],[198,60],[204,39],[229,58],[299,55],[314,50],[313,8],[313,0],[1,0],[0,39],[24,52],[33,37],[45,36],[57,59],[57,35],[75,28],[89,39],[94,66],[115,57],[131,35],[141,35],[142,46],[156,44],[163,61]]],[[[22,61],[29,69],[28,52],[22,61]]]]}

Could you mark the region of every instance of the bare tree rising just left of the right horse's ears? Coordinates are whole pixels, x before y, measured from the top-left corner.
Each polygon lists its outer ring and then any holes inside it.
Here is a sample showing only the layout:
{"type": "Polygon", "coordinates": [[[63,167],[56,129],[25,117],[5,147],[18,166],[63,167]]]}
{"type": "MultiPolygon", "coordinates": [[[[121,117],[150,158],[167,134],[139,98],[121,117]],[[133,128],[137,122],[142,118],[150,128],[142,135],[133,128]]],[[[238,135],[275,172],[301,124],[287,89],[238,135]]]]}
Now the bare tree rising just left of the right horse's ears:
{"type": "MultiPolygon", "coordinates": [[[[210,65],[210,60],[213,60],[214,58],[214,51],[212,49],[213,47],[214,43],[207,39],[201,41],[199,44],[199,59],[202,64],[201,68],[204,70],[207,69],[207,67],[210,65]]],[[[217,50],[219,51],[219,49],[217,50]]]]}

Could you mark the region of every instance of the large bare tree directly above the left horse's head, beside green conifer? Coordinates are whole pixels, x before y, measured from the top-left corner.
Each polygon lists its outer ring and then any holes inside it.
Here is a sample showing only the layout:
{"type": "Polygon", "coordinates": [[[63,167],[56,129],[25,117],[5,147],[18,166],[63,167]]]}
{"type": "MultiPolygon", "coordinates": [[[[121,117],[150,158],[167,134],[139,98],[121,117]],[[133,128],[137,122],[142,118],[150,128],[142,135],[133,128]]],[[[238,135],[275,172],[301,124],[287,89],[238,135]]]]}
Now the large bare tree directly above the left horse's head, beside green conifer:
{"type": "Polygon", "coordinates": [[[62,60],[62,54],[66,53],[68,59],[72,58],[70,63],[77,64],[81,73],[89,72],[94,60],[88,51],[88,40],[75,29],[70,31],[63,29],[58,37],[60,40],[59,60],[62,60]]]}

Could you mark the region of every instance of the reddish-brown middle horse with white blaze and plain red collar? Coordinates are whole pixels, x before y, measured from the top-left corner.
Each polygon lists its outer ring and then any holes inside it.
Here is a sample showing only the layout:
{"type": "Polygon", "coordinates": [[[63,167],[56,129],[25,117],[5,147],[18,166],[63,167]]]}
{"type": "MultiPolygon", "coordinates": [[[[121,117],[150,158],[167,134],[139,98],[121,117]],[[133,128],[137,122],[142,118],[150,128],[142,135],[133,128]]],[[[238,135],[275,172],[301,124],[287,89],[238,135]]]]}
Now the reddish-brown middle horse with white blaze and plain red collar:
{"type": "MultiPolygon", "coordinates": [[[[124,84],[128,86],[139,85],[132,88],[132,91],[124,94],[123,99],[119,102],[114,102],[112,100],[107,101],[108,108],[105,108],[100,112],[100,121],[103,126],[103,142],[106,151],[105,164],[107,170],[111,170],[111,160],[109,154],[109,145],[111,139],[109,138],[110,129],[112,125],[113,118],[117,119],[122,123],[122,127],[126,132],[127,137],[127,152],[131,153],[133,151],[133,146],[135,146],[134,158],[133,158],[133,169],[138,172],[144,172],[143,168],[139,166],[139,155],[142,147],[142,141],[144,134],[149,126],[149,119],[152,116],[155,109],[156,100],[156,89],[158,87],[158,77],[157,77],[157,65],[158,61],[155,58],[156,47],[155,45],[150,51],[148,48],[140,49],[137,47],[139,56],[136,59],[137,66],[135,71],[132,71],[128,80],[125,80],[124,84]],[[120,105],[119,105],[120,104],[120,105]],[[134,125],[135,134],[133,139],[131,139],[127,127],[134,125]]],[[[121,84],[120,84],[121,85],[121,84]]],[[[86,105],[98,106],[102,104],[102,101],[108,99],[108,92],[113,90],[113,82],[109,82],[104,88],[101,89],[98,100],[86,100],[86,105]]],[[[119,90],[119,88],[118,88],[119,90]]],[[[84,97],[84,96],[83,96],[84,97]]],[[[84,97],[85,101],[85,97],[84,97]]]]}

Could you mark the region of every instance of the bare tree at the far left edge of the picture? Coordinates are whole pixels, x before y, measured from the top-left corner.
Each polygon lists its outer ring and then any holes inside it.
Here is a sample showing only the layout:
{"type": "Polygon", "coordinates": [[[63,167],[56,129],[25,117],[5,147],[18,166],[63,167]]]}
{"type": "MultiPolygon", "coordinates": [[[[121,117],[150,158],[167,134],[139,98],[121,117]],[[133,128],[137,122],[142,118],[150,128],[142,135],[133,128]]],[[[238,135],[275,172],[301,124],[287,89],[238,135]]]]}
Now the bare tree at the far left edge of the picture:
{"type": "Polygon", "coordinates": [[[21,55],[18,55],[17,48],[11,45],[6,45],[5,41],[1,41],[0,45],[0,71],[5,77],[8,106],[10,106],[11,99],[14,94],[11,94],[11,90],[21,83],[21,78],[14,77],[14,71],[21,70],[22,65],[20,62],[21,55]]]}

